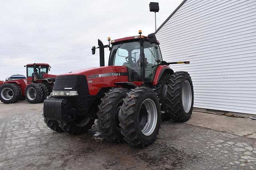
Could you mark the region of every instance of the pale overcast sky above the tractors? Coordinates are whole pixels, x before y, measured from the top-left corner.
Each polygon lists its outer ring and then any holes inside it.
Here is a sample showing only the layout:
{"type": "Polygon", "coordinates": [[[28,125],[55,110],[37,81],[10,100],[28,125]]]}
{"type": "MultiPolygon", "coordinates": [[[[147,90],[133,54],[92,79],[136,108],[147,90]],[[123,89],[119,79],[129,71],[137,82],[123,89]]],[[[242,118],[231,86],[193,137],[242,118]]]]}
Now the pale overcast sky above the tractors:
{"type": "MultiPolygon", "coordinates": [[[[158,0],[157,28],[182,0],[158,0]]],[[[99,66],[98,39],[107,44],[155,31],[150,0],[2,0],[0,1],[0,80],[26,75],[23,65],[49,63],[60,74],[99,66]]],[[[105,50],[105,64],[108,62],[105,50]]]]}

